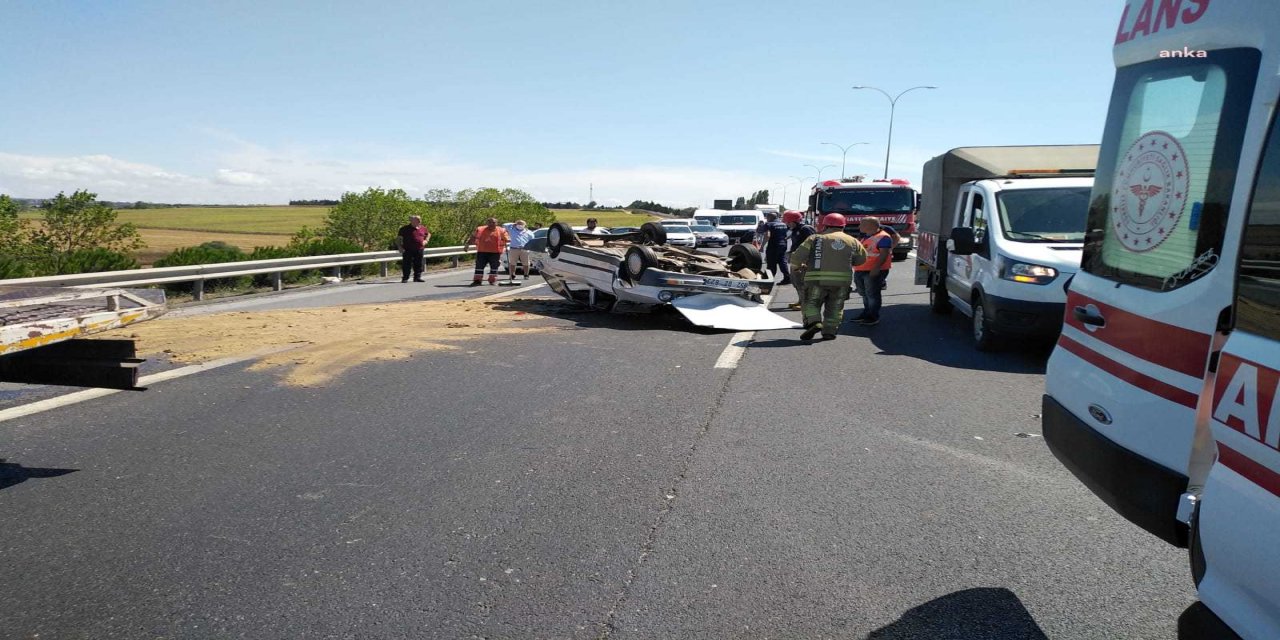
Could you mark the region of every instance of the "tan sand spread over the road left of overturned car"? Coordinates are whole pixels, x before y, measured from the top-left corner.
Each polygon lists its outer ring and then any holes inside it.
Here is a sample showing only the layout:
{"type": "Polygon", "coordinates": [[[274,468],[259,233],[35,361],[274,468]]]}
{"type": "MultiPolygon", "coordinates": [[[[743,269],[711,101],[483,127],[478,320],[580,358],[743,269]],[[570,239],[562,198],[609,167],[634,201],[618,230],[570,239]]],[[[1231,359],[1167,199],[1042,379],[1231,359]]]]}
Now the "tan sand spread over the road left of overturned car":
{"type": "Polygon", "coordinates": [[[365,362],[460,349],[461,343],[494,335],[554,329],[521,326],[521,323],[539,316],[499,310],[495,305],[477,301],[397,302],[160,317],[104,333],[102,337],[133,338],[142,356],[163,353],[182,364],[296,346],[265,356],[250,369],[280,370],[284,384],[316,387],[365,362]]]}

